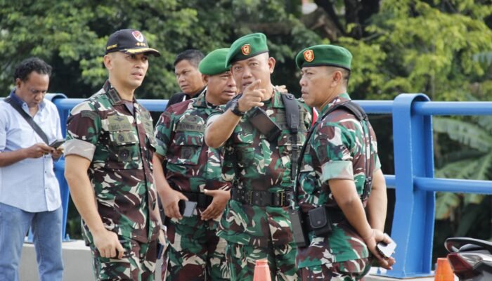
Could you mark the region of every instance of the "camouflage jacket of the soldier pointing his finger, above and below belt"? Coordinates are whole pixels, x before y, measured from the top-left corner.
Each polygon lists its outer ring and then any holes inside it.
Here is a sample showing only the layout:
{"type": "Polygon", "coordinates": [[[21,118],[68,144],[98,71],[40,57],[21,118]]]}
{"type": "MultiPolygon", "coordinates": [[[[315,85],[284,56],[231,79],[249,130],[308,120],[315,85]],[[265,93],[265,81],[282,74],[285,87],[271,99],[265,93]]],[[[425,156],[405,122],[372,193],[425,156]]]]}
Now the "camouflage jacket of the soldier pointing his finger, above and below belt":
{"type": "MultiPolygon", "coordinates": [[[[311,124],[311,109],[299,101],[299,132],[294,140],[287,126],[281,93],[274,93],[261,107],[282,132],[277,143],[248,122],[245,115],[224,144],[223,176],[237,181],[238,188],[269,192],[292,191],[292,144],[302,146],[311,124]],[[238,174],[234,164],[237,163],[238,174]]],[[[221,218],[218,235],[229,242],[268,247],[292,242],[292,226],[288,207],[258,207],[229,200],[221,218]],[[267,234],[271,233],[271,237],[267,234]]]]}

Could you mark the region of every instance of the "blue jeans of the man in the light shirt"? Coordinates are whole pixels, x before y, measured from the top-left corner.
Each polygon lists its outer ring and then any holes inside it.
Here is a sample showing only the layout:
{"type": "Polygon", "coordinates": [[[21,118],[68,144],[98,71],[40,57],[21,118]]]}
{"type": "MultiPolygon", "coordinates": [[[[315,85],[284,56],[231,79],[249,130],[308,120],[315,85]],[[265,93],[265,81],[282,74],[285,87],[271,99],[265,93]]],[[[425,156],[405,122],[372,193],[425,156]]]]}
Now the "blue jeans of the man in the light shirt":
{"type": "Polygon", "coordinates": [[[62,208],[30,213],[0,203],[0,281],[18,281],[24,237],[32,228],[39,280],[62,280],[62,208]]]}

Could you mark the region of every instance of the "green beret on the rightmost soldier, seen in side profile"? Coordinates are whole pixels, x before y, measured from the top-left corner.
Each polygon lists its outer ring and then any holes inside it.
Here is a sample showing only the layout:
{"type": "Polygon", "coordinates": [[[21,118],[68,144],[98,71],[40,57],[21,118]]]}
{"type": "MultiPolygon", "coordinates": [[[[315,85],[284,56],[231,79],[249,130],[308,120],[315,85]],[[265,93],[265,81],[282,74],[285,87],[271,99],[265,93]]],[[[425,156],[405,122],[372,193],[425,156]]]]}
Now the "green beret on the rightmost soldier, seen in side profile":
{"type": "Polygon", "coordinates": [[[344,47],[334,45],[316,45],[305,48],[295,57],[299,69],[309,66],[335,66],[350,70],[352,54],[344,47]]]}

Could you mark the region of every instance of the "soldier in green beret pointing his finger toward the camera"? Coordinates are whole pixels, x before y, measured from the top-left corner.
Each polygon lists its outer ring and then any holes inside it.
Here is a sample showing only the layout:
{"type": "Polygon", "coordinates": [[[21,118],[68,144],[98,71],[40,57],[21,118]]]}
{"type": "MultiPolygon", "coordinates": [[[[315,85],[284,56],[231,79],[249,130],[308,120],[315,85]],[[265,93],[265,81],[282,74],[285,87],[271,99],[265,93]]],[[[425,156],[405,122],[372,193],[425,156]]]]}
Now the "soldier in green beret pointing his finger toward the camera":
{"type": "MultiPolygon", "coordinates": [[[[221,218],[220,237],[227,240],[231,280],[252,280],[255,262],[268,259],[272,280],[296,280],[296,247],[287,214],[293,181],[292,154],[304,143],[311,110],[299,107],[299,131],[287,126],[281,93],[271,84],[275,59],[269,57],[264,34],[236,40],[228,53],[234,79],[242,93],[223,114],[207,121],[205,138],[212,147],[224,145],[224,177],[234,183],[231,200],[221,218]],[[280,136],[268,141],[252,125],[252,107],[261,107],[280,127],[280,136]]],[[[219,112],[220,113],[220,112],[219,112]]]]}

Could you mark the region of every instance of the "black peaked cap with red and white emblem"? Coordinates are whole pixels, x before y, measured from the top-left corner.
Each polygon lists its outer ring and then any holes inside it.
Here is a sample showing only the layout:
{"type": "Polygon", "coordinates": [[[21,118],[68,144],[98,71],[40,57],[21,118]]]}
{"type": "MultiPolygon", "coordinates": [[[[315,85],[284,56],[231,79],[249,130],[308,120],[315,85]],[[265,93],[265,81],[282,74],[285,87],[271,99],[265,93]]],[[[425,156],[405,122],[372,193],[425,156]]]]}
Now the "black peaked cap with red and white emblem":
{"type": "Polygon", "coordinates": [[[117,51],[128,54],[150,53],[160,56],[159,51],[155,48],[149,48],[147,39],[138,30],[118,30],[111,34],[106,43],[105,54],[117,51]]]}

